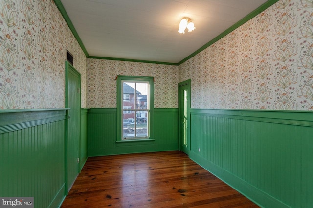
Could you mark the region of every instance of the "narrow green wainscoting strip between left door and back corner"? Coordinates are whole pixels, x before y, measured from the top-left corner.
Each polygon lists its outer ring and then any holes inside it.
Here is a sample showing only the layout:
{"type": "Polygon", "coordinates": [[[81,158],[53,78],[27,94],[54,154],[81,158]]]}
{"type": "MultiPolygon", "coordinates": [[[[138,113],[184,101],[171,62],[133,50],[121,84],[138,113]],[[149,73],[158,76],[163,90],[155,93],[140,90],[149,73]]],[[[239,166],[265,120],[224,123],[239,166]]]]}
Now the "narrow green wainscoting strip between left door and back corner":
{"type": "Polygon", "coordinates": [[[83,108],[81,110],[81,122],[80,122],[80,169],[82,170],[85,165],[88,152],[87,152],[87,118],[88,118],[88,109],[83,108]]]}

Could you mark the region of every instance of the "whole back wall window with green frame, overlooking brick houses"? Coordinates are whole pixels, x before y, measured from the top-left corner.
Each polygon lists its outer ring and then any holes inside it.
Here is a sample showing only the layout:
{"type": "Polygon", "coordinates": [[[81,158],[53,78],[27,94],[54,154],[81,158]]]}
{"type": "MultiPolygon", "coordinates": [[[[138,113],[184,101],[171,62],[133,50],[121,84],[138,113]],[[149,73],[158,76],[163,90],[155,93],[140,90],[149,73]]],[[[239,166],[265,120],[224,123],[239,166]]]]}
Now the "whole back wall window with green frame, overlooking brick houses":
{"type": "Polygon", "coordinates": [[[153,87],[153,77],[118,76],[117,141],[151,138],[153,87]]]}

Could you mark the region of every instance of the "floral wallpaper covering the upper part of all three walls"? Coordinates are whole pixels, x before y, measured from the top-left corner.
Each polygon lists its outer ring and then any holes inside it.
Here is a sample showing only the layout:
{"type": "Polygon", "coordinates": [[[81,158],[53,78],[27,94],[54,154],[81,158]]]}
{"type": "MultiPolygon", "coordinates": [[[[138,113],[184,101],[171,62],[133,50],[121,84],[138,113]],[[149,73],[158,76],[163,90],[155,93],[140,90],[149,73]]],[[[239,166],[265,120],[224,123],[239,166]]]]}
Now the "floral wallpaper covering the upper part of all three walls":
{"type": "Polygon", "coordinates": [[[63,108],[66,50],[82,107],[116,107],[116,75],[154,76],[155,107],[313,109],[313,3],[280,0],[180,66],[86,59],[53,0],[0,0],[0,109],[63,108]],[[88,86],[87,86],[88,84],[88,86]]]}

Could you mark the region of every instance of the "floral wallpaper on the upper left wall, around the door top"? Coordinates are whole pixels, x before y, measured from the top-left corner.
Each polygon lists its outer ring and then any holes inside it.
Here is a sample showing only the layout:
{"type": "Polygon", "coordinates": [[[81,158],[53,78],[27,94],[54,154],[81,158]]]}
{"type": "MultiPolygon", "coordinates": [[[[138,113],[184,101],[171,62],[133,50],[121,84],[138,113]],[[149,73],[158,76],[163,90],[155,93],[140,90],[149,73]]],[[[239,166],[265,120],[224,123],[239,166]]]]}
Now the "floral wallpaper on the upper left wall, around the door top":
{"type": "Polygon", "coordinates": [[[0,0],[0,109],[64,108],[66,50],[86,107],[86,56],[53,0],[0,0]]]}

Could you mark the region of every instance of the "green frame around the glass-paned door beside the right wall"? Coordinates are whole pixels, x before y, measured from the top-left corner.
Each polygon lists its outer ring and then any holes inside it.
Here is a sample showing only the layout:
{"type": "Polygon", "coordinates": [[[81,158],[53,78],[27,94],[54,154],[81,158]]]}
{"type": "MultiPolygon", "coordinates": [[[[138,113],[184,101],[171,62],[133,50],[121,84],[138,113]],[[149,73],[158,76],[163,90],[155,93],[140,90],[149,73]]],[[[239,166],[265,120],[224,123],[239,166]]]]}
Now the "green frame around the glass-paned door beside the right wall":
{"type": "Polygon", "coordinates": [[[187,122],[187,144],[189,144],[188,146],[188,153],[185,152],[186,154],[189,155],[190,152],[190,143],[191,143],[191,139],[190,139],[190,108],[191,108],[191,79],[185,80],[183,82],[178,83],[178,107],[179,107],[179,151],[181,151],[181,127],[182,127],[182,123],[181,123],[181,113],[182,113],[182,109],[180,107],[181,103],[180,103],[180,98],[182,95],[180,95],[180,89],[182,86],[186,86],[188,85],[188,91],[189,94],[187,95],[187,99],[189,100],[188,105],[187,105],[187,120],[189,122],[187,122]]]}

